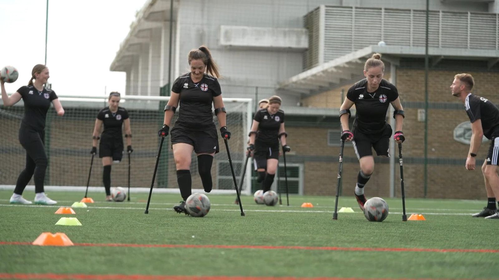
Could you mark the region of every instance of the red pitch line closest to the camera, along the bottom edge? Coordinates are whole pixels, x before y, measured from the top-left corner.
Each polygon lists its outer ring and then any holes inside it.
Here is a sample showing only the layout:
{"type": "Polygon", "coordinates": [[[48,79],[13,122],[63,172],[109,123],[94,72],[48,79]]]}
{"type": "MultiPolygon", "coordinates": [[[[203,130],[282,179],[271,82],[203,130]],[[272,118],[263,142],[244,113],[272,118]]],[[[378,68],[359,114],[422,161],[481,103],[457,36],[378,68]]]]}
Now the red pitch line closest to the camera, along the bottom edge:
{"type": "MultiPolygon", "coordinates": [[[[0,273],[0,279],[78,279],[78,280],[355,280],[363,278],[338,278],[338,277],[317,277],[317,278],[299,278],[299,277],[243,277],[243,276],[163,276],[163,275],[89,275],[89,274],[8,274],[0,273]]],[[[379,278],[364,278],[369,280],[378,280],[379,278]]],[[[395,279],[392,279],[395,280],[395,279]]],[[[399,278],[399,280],[411,280],[408,278],[399,278]]]]}

